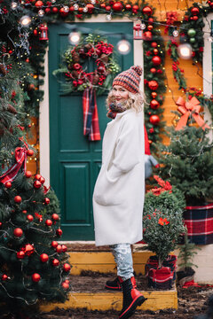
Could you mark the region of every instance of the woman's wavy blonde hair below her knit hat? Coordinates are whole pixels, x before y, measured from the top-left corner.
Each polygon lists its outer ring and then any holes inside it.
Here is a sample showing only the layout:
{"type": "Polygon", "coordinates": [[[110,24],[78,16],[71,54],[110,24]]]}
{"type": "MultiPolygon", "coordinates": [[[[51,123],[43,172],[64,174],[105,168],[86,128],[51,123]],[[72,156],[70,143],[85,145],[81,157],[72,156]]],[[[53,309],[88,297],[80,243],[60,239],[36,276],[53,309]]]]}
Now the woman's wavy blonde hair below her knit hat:
{"type": "MultiPolygon", "coordinates": [[[[125,105],[127,109],[133,108],[136,113],[141,112],[143,110],[143,104],[145,102],[144,93],[139,91],[138,93],[134,94],[128,91],[129,98],[125,101],[125,105]]],[[[109,91],[109,94],[106,98],[106,107],[108,108],[110,103],[114,103],[114,92],[113,89],[109,91]]]]}

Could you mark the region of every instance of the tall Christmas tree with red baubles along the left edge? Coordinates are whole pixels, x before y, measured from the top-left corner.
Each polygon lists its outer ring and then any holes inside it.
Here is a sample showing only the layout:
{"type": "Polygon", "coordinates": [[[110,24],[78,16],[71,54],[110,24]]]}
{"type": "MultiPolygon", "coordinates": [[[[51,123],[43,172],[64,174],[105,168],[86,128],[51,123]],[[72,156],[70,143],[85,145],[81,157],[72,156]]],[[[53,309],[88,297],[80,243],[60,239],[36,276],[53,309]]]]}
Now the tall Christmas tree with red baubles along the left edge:
{"type": "Polygon", "coordinates": [[[59,203],[26,167],[35,152],[26,138],[32,72],[0,41],[0,313],[14,318],[35,313],[41,300],[64,301],[69,291],[59,203]]]}

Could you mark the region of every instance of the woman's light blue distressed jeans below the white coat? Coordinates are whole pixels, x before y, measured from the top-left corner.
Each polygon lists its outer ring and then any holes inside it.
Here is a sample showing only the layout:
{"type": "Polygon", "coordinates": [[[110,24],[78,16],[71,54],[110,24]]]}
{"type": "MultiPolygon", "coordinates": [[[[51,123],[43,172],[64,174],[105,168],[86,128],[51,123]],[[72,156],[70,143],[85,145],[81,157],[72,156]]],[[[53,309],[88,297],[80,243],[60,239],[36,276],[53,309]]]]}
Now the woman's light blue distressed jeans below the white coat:
{"type": "Polygon", "coordinates": [[[122,280],[134,276],[130,244],[110,245],[110,248],[117,264],[117,276],[121,276],[122,280]]]}

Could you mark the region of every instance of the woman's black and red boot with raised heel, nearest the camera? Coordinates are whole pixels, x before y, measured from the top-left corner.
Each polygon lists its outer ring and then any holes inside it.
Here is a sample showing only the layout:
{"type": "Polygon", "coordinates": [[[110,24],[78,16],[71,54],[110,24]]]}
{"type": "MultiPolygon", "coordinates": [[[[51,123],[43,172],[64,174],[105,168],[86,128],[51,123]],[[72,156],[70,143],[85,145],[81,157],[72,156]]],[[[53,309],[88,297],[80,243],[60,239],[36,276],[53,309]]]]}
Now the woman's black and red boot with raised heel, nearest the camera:
{"type": "Polygon", "coordinates": [[[120,319],[130,318],[134,314],[136,308],[146,301],[146,298],[134,288],[135,278],[122,282],[122,311],[119,314],[120,319]]]}

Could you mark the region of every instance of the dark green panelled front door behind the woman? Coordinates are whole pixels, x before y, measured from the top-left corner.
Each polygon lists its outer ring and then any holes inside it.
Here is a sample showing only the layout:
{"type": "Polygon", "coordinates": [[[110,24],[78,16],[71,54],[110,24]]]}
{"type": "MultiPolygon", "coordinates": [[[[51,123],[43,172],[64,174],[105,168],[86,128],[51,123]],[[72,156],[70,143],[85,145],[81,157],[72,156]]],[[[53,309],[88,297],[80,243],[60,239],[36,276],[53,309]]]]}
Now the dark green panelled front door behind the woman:
{"type": "MultiPolygon", "coordinates": [[[[132,35],[133,23],[78,23],[91,33],[106,31],[108,43],[121,40],[123,34],[132,35]]],[[[94,239],[92,191],[101,165],[101,144],[89,142],[83,136],[82,94],[63,96],[52,71],[59,68],[61,54],[67,49],[66,25],[49,27],[49,96],[50,96],[50,147],[51,186],[59,197],[63,240],[94,239]]],[[[85,33],[85,34],[86,34],[85,33]]],[[[126,56],[117,55],[122,70],[133,64],[132,50],[126,56]]],[[[103,137],[106,123],[106,95],[98,97],[99,127],[103,137]]]]}

